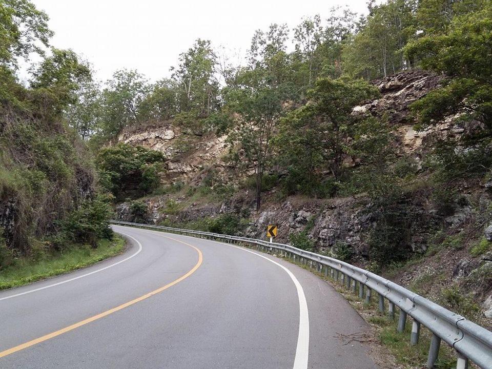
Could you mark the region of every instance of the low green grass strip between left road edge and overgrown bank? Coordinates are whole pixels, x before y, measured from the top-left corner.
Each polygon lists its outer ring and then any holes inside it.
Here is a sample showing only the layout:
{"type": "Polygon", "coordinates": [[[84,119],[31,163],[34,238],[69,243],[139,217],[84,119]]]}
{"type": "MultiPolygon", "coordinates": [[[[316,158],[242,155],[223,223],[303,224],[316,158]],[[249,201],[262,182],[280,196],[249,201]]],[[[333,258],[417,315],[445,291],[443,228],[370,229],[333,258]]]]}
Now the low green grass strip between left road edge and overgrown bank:
{"type": "Polygon", "coordinates": [[[95,249],[89,245],[73,245],[63,252],[42,254],[36,260],[18,258],[0,271],[0,290],[88,267],[124,249],[125,239],[114,235],[112,240],[100,240],[95,249]]]}

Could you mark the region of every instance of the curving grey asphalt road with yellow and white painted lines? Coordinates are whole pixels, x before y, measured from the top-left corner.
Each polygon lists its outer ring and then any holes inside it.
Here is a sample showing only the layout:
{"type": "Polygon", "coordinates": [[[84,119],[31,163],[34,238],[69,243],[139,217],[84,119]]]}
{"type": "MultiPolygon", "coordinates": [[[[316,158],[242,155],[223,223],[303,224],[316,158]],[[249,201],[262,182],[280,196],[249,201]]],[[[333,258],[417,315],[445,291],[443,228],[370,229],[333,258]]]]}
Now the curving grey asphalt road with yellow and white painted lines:
{"type": "Polygon", "coordinates": [[[0,292],[0,368],[378,368],[330,285],[274,256],[114,226],[125,254],[0,292]],[[272,262],[273,261],[273,262],[272,262]]]}

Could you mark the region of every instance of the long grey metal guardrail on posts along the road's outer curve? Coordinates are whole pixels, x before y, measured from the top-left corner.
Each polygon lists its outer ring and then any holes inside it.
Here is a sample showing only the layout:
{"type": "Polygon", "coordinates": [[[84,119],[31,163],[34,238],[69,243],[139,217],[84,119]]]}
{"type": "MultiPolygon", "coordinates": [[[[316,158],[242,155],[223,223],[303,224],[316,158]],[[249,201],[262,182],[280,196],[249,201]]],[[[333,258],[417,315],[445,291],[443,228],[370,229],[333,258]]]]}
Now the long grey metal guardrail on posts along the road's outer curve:
{"type": "Polygon", "coordinates": [[[427,368],[434,367],[439,354],[441,341],[444,341],[456,351],[457,369],[466,369],[468,360],[474,362],[482,369],[492,369],[492,332],[392,281],[364,269],[354,267],[354,265],[341,260],[297,249],[288,244],[267,242],[254,238],[124,221],[112,221],[112,223],[161,229],[172,233],[221,240],[227,243],[247,244],[255,247],[258,251],[273,252],[273,250],[277,250],[282,256],[293,259],[293,261],[297,260],[303,264],[309,263],[312,268],[316,267],[319,272],[323,272],[324,270],[325,276],[330,275],[335,280],[341,281],[346,284],[347,288],[352,289],[354,293],[358,285],[359,297],[364,298],[365,290],[366,302],[371,301],[372,291],[376,292],[378,294],[379,311],[385,311],[384,300],[388,300],[388,314],[391,318],[395,317],[395,306],[397,306],[400,309],[398,320],[399,332],[404,331],[407,316],[409,315],[413,318],[411,335],[411,343],[413,345],[418,343],[420,326],[427,327],[432,332],[427,368]]]}

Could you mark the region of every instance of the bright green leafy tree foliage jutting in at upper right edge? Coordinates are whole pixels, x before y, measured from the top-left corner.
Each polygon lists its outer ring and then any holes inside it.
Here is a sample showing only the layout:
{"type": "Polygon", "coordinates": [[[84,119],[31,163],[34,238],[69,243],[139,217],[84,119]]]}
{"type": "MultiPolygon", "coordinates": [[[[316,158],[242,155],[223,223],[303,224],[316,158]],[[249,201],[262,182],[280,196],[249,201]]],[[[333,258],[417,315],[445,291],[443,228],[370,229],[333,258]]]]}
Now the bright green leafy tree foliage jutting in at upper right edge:
{"type": "Polygon", "coordinates": [[[467,129],[465,140],[492,137],[492,4],[453,18],[448,30],[428,35],[405,47],[422,68],[444,73],[443,86],[413,104],[423,126],[458,114],[457,124],[478,121],[467,129]]]}

